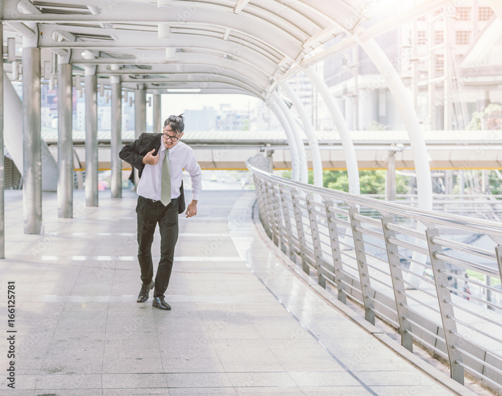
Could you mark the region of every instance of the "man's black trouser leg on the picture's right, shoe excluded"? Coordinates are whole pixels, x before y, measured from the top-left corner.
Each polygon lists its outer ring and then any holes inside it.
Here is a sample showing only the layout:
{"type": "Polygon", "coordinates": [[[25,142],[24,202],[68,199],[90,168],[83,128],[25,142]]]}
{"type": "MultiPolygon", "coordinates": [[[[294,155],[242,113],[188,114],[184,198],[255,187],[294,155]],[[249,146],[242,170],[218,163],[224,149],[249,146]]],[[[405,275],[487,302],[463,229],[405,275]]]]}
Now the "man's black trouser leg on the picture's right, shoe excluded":
{"type": "Polygon", "coordinates": [[[159,208],[160,261],[155,277],[154,297],[164,298],[173,270],[174,248],[178,241],[178,200],[159,208]]]}

